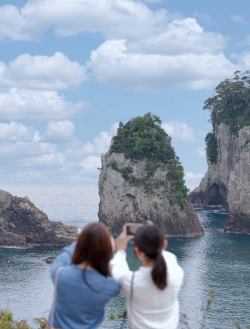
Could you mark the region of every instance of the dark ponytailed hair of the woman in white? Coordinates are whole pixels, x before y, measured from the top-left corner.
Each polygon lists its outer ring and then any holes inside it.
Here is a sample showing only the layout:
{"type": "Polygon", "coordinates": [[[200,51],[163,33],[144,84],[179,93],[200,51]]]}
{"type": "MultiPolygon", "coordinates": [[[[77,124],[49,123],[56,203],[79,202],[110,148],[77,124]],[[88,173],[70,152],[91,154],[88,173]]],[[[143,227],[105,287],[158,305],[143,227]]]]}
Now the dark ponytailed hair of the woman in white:
{"type": "Polygon", "coordinates": [[[163,290],[167,286],[167,264],[161,254],[164,245],[164,235],[157,226],[144,225],[135,234],[134,245],[148,258],[154,259],[151,272],[155,285],[163,290]]]}

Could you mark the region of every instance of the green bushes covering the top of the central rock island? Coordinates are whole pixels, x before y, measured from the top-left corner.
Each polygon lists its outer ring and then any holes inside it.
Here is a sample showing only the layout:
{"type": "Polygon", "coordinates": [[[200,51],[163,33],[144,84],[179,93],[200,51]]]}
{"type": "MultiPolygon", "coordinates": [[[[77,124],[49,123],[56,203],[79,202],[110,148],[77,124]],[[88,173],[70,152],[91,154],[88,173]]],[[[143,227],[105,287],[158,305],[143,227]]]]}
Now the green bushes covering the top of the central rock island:
{"type": "Polygon", "coordinates": [[[165,171],[167,167],[167,177],[171,184],[168,198],[171,204],[178,203],[181,209],[184,209],[188,199],[188,188],[183,179],[183,167],[171,146],[171,137],[160,124],[158,116],[147,113],[143,117],[133,118],[125,125],[120,122],[117,136],[113,137],[110,152],[124,153],[126,158],[133,161],[146,159],[146,177],[136,178],[131,167],[119,168],[115,160],[110,161],[108,167],[119,171],[130,184],[143,185],[146,193],[155,193],[155,189],[164,185],[163,181],[153,179],[153,176],[157,168],[165,171]]]}

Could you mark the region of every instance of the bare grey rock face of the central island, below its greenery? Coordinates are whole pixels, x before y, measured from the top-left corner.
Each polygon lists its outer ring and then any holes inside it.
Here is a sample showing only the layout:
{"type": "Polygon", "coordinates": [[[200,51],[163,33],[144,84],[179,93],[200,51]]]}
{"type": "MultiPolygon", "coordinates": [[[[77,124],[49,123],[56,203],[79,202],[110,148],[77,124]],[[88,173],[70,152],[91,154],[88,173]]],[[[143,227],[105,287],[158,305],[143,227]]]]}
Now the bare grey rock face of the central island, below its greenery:
{"type": "Polygon", "coordinates": [[[99,177],[99,220],[104,222],[117,236],[126,222],[141,222],[150,219],[157,223],[168,237],[200,236],[203,229],[193,206],[189,203],[184,210],[178,204],[170,205],[166,190],[170,188],[167,171],[158,168],[153,179],[161,182],[155,193],[146,193],[143,186],[126,181],[122,174],[107,166],[115,160],[119,168],[131,167],[133,176],[146,176],[146,161],[131,161],[123,154],[102,155],[99,177]]]}

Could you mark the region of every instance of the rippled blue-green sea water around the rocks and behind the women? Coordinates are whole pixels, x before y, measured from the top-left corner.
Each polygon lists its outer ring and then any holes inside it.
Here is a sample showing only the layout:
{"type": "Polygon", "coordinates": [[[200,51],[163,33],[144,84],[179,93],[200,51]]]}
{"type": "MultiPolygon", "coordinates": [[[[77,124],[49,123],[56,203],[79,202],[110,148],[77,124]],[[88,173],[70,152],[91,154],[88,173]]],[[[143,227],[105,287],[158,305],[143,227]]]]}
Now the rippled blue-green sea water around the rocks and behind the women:
{"type": "MultiPolygon", "coordinates": [[[[87,223],[98,221],[97,186],[1,186],[17,196],[28,196],[47,213],[49,219],[76,225],[79,230],[87,223]]],[[[250,325],[250,236],[226,234],[226,214],[197,210],[205,234],[199,238],[169,239],[168,250],[175,253],[185,271],[179,295],[180,312],[188,317],[189,327],[201,328],[203,308],[214,290],[214,300],[207,313],[207,328],[233,328],[230,316],[243,325],[250,325]]],[[[60,248],[0,248],[0,309],[10,308],[14,319],[26,319],[34,325],[35,317],[48,316],[53,285],[50,265],[43,260],[58,255],[60,248]]],[[[140,266],[128,247],[132,269],[140,266]]],[[[120,320],[109,315],[122,310],[122,295],[106,306],[105,320],[100,328],[119,328],[120,320]]],[[[179,325],[179,328],[186,328],[179,325]]]]}

